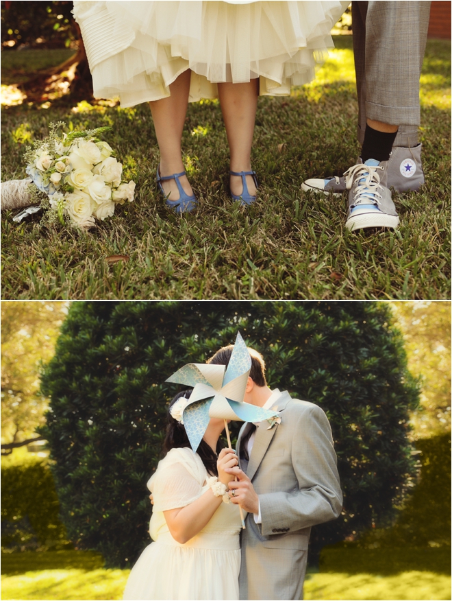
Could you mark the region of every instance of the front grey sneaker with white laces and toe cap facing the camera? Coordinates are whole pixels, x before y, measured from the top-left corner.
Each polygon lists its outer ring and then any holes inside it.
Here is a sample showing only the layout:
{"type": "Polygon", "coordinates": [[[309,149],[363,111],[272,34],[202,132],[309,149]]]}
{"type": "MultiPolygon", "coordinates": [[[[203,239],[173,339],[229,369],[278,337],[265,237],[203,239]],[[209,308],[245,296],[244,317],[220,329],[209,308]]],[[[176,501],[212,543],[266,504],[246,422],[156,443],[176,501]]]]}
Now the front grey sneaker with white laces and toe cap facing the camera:
{"type": "Polygon", "coordinates": [[[388,161],[369,158],[345,173],[349,189],[349,215],[345,227],[352,232],[360,228],[397,228],[399,216],[385,185],[388,161]],[[380,176],[381,174],[381,176],[380,176]]]}

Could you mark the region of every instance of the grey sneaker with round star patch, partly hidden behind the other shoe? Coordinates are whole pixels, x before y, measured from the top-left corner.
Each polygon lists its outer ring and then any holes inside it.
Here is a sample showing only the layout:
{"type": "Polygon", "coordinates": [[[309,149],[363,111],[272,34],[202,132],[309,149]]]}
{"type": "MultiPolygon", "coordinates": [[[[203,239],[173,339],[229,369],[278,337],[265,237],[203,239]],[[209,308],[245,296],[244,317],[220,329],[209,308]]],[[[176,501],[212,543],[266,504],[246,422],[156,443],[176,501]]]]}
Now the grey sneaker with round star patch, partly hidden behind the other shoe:
{"type": "MultiPolygon", "coordinates": [[[[422,144],[414,148],[403,148],[402,146],[393,146],[386,167],[386,183],[388,188],[394,188],[398,192],[418,191],[425,182],[422,161],[420,160],[420,150],[422,144]]],[[[325,194],[333,193],[339,196],[347,190],[344,177],[332,177],[321,179],[306,180],[301,184],[301,189],[308,191],[323,192],[325,194]]]]}

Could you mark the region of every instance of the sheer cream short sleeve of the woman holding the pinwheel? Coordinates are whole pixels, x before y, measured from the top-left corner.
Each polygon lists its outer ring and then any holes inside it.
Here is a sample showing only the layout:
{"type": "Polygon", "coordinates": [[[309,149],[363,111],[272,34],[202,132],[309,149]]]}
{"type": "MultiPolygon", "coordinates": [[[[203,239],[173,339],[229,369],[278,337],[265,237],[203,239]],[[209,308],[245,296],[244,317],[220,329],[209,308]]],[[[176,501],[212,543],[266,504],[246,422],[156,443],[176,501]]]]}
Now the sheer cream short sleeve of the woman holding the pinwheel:
{"type": "Polygon", "coordinates": [[[205,480],[205,469],[199,461],[191,449],[172,449],[168,453],[148,484],[153,511],[185,507],[199,498],[205,480]]]}

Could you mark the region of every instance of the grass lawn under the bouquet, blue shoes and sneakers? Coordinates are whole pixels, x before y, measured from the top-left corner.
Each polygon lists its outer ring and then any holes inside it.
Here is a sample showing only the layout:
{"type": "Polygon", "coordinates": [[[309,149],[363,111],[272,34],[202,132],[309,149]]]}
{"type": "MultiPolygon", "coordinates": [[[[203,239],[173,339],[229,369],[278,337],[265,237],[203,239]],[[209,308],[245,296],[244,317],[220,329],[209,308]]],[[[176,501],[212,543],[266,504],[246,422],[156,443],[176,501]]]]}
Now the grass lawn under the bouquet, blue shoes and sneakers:
{"type": "Polygon", "coordinates": [[[111,125],[105,139],[138,186],[134,203],[88,233],[42,227],[38,215],[16,224],[5,212],[2,298],[449,298],[448,41],[427,43],[421,80],[426,185],[420,193],[394,195],[399,229],[349,233],[345,196],[318,198],[300,189],[307,177],[342,174],[359,152],[351,42],[336,37],[316,82],[290,97],[260,98],[253,147],[260,196],[249,209],[227,196],[228,150],[217,102],[188,108],[184,161],[200,204],[183,217],[168,212],[155,189],[158,147],[146,105],[25,102],[3,110],[2,180],[24,177],[25,144],[45,136],[49,121],[63,120],[74,128],[111,125]],[[110,264],[110,255],[129,260],[110,264]]]}

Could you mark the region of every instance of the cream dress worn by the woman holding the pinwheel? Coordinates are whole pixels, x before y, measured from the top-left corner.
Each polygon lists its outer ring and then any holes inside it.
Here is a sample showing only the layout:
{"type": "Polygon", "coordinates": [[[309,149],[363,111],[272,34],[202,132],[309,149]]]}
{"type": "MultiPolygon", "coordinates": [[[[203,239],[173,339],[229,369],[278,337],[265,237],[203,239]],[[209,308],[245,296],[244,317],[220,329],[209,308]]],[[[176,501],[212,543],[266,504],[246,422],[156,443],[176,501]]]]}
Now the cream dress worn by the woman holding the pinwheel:
{"type": "Polygon", "coordinates": [[[153,493],[151,538],[131,570],[124,599],[238,599],[240,513],[222,503],[212,519],[188,543],[171,536],[163,511],[184,507],[206,490],[208,478],[192,449],[171,449],[148,482],[153,493]]]}

